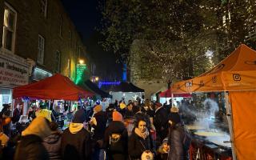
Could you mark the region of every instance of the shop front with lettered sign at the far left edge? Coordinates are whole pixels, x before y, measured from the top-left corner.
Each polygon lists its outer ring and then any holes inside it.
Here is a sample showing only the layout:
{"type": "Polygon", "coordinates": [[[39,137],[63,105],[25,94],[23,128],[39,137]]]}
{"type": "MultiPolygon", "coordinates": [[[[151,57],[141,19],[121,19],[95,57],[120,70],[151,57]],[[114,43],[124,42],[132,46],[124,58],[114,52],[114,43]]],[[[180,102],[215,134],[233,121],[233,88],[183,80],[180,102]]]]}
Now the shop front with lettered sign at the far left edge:
{"type": "Polygon", "coordinates": [[[2,104],[12,103],[12,90],[29,82],[30,65],[26,59],[0,50],[0,110],[2,104]]]}

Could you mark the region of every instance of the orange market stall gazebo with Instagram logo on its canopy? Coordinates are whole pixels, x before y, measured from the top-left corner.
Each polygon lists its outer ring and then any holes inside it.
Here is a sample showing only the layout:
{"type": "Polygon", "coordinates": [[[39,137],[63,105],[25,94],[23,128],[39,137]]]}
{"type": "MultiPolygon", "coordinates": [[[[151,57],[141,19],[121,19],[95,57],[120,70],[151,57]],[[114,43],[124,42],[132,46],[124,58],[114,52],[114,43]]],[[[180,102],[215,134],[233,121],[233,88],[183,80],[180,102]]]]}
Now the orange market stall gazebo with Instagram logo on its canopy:
{"type": "Polygon", "coordinates": [[[206,73],[172,86],[174,94],[225,92],[233,159],[256,159],[256,51],[238,46],[206,73]]]}

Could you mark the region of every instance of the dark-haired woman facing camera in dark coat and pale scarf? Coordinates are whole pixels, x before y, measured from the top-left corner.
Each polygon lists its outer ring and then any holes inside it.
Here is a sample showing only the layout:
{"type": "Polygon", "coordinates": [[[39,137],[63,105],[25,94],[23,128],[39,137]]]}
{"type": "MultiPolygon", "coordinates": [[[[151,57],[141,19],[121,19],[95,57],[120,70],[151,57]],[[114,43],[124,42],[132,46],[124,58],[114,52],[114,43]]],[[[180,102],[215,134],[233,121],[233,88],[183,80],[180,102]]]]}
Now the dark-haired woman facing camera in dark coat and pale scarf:
{"type": "Polygon", "coordinates": [[[155,146],[147,128],[145,118],[139,118],[128,141],[128,154],[131,159],[140,159],[143,152],[155,153],[155,146]]]}

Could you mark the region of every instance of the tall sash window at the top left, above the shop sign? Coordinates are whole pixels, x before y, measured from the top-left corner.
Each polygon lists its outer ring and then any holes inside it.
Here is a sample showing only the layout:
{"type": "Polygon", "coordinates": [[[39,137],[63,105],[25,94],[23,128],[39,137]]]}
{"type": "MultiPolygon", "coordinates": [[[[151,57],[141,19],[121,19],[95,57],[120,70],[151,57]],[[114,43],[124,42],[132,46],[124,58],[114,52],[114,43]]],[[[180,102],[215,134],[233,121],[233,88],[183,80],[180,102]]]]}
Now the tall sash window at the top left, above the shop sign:
{"type": "Polygon", "coordinates": [[[4,6],[2,47],[14,53],[17,12],[7,3],[4,6]]]}

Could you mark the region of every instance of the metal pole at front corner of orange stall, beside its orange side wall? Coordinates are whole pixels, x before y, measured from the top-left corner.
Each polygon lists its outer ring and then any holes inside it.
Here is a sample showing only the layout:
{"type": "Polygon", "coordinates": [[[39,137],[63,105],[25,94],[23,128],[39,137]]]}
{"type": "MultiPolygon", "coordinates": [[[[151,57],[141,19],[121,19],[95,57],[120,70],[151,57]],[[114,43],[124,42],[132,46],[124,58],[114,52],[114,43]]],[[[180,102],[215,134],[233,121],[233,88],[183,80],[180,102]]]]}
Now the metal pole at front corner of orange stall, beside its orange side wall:
{"type": "Polygon", "coordinates": [[[236,160],[237,158],[236,158],[236,154],[235,154],[235,150],[234,150],[232,108],[231,108],[231,104],[229,102],[229,93],[224,92],[224,94],[225,94],[226,118],[227,118],[227,122],[228,122],[228,125],[229,125],[229,130],[230,130],[230,143],[231,143],[231,147],[232,147],[232,158],[233,158],[233,160],[236,160]]]}

